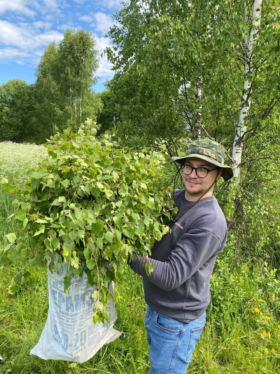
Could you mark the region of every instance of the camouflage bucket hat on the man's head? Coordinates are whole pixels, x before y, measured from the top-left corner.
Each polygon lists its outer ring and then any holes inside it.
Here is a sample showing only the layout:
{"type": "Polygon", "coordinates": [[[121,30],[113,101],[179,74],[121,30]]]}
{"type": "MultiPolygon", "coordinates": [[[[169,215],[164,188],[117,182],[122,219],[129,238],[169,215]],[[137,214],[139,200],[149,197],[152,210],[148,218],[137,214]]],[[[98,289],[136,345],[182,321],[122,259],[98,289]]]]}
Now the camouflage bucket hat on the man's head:
{"type": "Polygon", "coordinates": [[[187,158],[196,157],[205,160],[223,169],[221,177],[225,181],[233,177],[231,166],[224,165],[225,148],[215,141],[209,139],[195,140],[190,143],[186,156],[172,157],[174,162],[184,163],[187,158]]]}

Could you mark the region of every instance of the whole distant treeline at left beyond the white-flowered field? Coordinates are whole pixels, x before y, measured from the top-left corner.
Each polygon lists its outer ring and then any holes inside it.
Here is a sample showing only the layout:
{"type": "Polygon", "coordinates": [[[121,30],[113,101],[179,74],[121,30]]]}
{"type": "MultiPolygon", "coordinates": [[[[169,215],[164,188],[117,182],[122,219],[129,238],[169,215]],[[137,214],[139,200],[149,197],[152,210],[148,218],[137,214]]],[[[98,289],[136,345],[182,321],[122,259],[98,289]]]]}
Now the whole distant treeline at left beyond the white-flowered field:
{"type": "Polygon", "coordinates": [[[47,46],[34,85],[13,79],[0,86],[0,141],[42,144],[56,126],[77,131],[87,117],[97,117],[102,101],[91,89],[97,81],[95,45],[89,31],[68,29],[58,46],[47,46]]]}

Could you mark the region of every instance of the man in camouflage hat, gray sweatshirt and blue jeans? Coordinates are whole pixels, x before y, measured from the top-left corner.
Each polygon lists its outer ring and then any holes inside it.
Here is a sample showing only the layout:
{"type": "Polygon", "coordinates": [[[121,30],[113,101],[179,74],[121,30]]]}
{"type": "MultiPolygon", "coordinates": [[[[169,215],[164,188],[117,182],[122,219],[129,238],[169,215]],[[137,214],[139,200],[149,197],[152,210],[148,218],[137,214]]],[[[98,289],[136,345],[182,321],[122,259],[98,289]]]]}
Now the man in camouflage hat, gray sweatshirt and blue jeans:
{"type": "Polygon", "coordinates": [[[217,254],[227,239],[227,224],[213,195],[215,182],[233,177],[224,165],[224,148],[211,140],[193,141],[181,164],[184,190],[176,190],[178,215],[171,233],[156,242],[147,276],[145,257],[134,252],[131,269],[143,277],[150,346],[150,374],[185,374],[205,325],[209,282],[217,254]]]}

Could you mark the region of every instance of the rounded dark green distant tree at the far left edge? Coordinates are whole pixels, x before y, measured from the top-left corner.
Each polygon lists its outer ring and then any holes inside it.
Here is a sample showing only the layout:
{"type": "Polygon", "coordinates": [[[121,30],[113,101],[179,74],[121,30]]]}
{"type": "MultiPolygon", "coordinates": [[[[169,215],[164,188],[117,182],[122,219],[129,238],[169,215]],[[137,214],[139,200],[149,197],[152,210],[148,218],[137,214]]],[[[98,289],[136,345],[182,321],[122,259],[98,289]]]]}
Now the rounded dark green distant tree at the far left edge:
{"type": "Polygon", "coordinates": [[[31,131],[33,86],[11,79],[0,86],[0,141],[27,141],[31,131]]]}

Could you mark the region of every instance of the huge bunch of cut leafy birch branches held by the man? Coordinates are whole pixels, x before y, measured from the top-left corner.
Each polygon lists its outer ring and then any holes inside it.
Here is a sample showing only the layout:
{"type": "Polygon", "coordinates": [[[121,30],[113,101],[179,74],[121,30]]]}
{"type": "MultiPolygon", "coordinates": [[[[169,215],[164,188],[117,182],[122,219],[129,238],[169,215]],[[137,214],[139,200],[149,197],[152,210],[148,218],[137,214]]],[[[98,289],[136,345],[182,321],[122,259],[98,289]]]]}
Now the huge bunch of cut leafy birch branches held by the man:
{"type": "MultiPolygon", "coordinates": [[[[48,141],[49,158],[29,171],[22,199],[13,201],[16,211],[8,217],[20,225],[21,237],[6,234],[9,244],[1,249],[0,260],[7,271],[18,260],[22,263],[7,284],[10,293],[24,283],[28,264],[47,261],[52,272],[67,261],[64,286],[69,292],[72,276],[81,276],[85,263],[88,281],[96,286],[97,322],[108,319],[108,282],[121,279],[135,250],[148,258],[155,240],[168,232],[175,208],[159,187],[164,146],[151,153],[131,152],[109,135],[97,141],[95,134],[87,120],[78,134],[67,128],[48,141]],[[29,249],[21,241],[24,236],[29,249]]],[[[151,271],[149,262],[146,271],[151,271]]]]}

